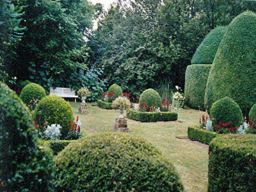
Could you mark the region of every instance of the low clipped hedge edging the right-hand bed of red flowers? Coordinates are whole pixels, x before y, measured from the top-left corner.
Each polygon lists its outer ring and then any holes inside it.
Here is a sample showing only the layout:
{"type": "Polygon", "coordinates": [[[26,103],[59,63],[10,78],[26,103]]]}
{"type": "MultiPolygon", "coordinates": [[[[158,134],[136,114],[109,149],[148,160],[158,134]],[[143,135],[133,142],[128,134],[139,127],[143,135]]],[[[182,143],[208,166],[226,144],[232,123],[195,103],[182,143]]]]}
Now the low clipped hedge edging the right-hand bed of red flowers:
{"type": "Polygon", "coordinates": [[[188,127],[188,138],[192,141],[199,141],[209,145],[216,136],[218,136],[216,132],[206,131],[198,127],[188,127]]]}

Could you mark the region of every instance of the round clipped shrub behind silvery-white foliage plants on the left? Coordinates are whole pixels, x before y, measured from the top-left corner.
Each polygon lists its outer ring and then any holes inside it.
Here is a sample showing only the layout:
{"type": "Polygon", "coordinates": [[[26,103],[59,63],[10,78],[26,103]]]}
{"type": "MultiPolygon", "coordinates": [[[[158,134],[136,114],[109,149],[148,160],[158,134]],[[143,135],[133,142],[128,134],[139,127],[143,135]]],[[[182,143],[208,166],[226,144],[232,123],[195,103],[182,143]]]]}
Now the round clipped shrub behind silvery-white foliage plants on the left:
{"type": "Polygon", "coordinates": [[[44,131],[45,122],[48,125],[61,125],[61,139],[68,134],[69,124],[74,122],[72,108],[69,102],[57,95],[44,97],[35,109],[35,121],[40,131],[44,131]]]}

